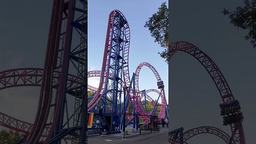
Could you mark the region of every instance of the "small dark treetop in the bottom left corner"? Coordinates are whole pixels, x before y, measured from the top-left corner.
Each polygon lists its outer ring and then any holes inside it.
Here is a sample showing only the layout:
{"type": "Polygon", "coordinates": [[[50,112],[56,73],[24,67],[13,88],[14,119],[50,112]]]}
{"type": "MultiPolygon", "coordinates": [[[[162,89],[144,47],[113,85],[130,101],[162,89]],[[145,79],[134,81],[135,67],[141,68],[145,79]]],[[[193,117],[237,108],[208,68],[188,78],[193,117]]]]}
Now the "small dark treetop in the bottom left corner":
{"type": "Polygon", "coordinates": [[[21,136],[18,132],[2,130],[0,132],[0,143],[1,144],[14,144],[20,140],[21,136]]]}

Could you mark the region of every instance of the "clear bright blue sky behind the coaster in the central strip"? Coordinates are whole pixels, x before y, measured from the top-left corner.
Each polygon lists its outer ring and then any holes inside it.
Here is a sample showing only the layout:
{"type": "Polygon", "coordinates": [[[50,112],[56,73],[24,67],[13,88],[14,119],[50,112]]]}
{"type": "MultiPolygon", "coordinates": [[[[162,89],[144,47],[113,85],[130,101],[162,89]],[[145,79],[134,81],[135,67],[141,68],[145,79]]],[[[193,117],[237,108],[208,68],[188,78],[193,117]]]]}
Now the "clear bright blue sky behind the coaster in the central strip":
{"type": "MultiPolygon", "coordinates": [[[[158,11],[158,7],[167,1],[89,1],[88,2],[88,68],[101,70],[103,50],[107,33],[109,13],[120,10],[127,19],[131,30],[129,54],[130,76],[141,62],[148,62],[155,67],[165,84],[165,94],[168,94],[168,65],[157,52],[163,48],[154,42],[148,28],[144,28],[146,21],[158,11]],[[150,3],[150,4],[149,4],[150,3]],[[143,6],[147,4],[147,6],[143,6]]],[[[97,78],[89,78],[89,84],[95,83],[97,78]],[[92,82],[93,81],[93,82],[92,82]]],[[[148,67],[142,67],[139,77],[140,90],[157,89],[157,80],[148,67]]],[[[157,94],[149,93],[153,99],[157,94]]],[[[167,98],[168,101],[168,98],[167,98]]]]}

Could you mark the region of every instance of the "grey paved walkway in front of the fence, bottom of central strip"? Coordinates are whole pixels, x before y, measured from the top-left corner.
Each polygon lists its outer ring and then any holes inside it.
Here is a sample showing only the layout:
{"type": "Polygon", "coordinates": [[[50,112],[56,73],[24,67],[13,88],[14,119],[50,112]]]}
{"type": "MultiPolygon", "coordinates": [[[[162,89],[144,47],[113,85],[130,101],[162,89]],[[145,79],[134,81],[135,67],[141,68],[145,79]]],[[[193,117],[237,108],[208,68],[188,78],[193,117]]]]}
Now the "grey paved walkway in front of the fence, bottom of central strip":
{"type": "Polygon", "coordinates": [[[121,139],[121,138],[111,138],[111,137],[105,137],[105,136],[94,136],[88,138],[89,144],[94,143],[109,143],[109,144],[115,144],[115,143],[122,143],[122,144],[170,144],[168,142],[168,128],[160,128],[160,132],[155,133],[149,133],[149,134],[143,134],[139,136],[134,136],[131,138],[121,139]]]}

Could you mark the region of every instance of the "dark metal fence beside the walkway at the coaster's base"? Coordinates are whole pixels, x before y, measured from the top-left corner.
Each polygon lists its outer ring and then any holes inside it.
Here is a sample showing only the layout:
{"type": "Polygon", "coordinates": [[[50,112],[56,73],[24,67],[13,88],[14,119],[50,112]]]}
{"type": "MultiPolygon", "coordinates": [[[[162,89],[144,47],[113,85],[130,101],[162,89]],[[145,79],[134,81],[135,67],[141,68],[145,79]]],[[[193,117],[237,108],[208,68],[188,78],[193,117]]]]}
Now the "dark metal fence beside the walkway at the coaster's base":
{"type": "Polygon", "coordinates": [[[151,117],[139,124],[138,115],[134,114],[95,114],[92,126],[88,127],[88,136],[103,135],[107,137],[127,138],[135,135],[159,131],[157,118],[151,117]],[[111,120],[116,119],[115,123],[111,120]],[[123,119],[126,119],[125,123],[123,119]],[[125,125],[124,125],[125,124],[125,125]]]}

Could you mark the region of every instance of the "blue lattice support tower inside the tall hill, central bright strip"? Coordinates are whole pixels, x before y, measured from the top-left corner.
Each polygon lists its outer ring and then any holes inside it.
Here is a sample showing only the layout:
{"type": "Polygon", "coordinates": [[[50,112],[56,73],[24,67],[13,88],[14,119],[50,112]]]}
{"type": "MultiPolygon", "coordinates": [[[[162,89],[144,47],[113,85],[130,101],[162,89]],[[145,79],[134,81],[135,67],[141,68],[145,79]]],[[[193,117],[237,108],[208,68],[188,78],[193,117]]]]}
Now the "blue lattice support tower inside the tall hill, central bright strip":
{"type": "MultiPolygon", "coordinates": [[[[109,73],[114,74],[109,75],[108,89],[112,91],[111,97],[111,113],[116,113],[119,111],[118,104],[120,104],[121,91],[122,91],[122,55],[124,46],[124,25],[127,23],[125,19],[119,12],[115,12],[113,18],[113,24],[111,30],[113,35],[111,35],[110,41],[110,60],[109,60],[109,73]]],[[[120,107],[119,107],[120,108],[120,107]]],[[[107,111],[105,111],[107,112],[107,111]]]]}

